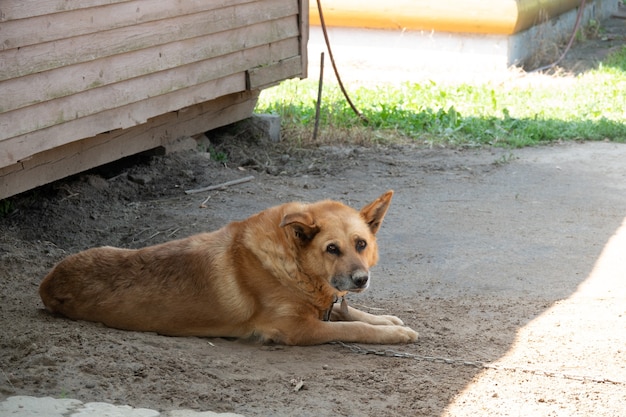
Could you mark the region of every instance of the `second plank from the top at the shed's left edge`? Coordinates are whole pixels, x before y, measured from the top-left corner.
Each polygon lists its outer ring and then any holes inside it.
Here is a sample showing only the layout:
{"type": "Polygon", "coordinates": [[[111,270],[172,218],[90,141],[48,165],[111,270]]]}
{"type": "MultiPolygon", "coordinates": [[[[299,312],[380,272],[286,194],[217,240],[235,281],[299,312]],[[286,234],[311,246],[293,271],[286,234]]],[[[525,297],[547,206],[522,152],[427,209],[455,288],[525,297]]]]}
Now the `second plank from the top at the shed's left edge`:
{"type": "MultiPolygon", "coordinates": [[[[255,0],[134,0],[2,23],[0,50],[72,38],[255,0]],[[38,30],[33,30],[38,28],[38,30]]],[[[79,2],[77,2],[79,3],[79,2]]],[[[1,8],[0,8],[1,9],[1,8]]],[[[1,12],[1,10],[0,10],[1,12]]]]}

